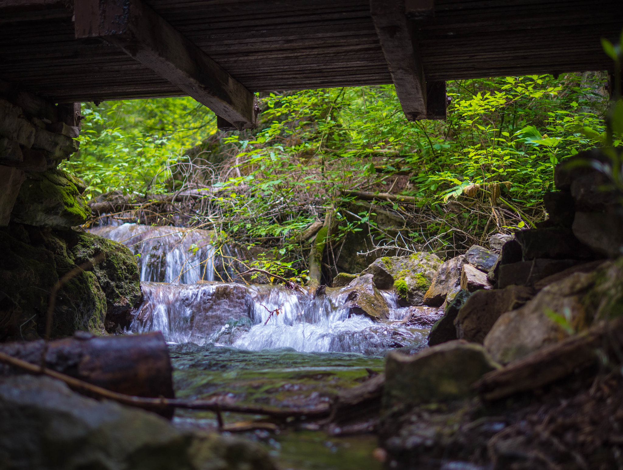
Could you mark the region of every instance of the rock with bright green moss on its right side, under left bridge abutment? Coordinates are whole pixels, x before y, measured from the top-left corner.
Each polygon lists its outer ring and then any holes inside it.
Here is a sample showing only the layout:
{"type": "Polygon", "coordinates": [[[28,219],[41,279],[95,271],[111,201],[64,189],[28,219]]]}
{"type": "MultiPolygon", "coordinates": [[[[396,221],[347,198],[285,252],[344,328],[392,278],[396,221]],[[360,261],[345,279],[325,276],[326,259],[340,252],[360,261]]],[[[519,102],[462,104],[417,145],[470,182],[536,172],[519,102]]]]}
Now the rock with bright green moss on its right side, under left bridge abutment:
{"type": "Polygon", "coordinates": [[[26,173],[11,212],[11,221],[39,227],[69,229],[91,218],[91,211],[72,178],[52,168],[26,173]]]}

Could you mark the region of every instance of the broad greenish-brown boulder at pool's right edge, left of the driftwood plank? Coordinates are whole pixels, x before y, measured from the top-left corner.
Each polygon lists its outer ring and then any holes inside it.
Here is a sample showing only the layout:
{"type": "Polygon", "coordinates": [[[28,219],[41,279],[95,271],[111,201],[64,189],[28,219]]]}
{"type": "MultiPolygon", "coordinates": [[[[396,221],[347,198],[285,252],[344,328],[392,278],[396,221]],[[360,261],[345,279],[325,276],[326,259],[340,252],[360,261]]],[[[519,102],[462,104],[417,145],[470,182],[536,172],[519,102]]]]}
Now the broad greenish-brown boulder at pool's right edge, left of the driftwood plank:
{"type": "Polygon", "coordinates": [[[383,408],[473,396],[472,384],[499,367],[485,348],[463,340],[443,343],[414,356],[389,353],[383,408]]]}

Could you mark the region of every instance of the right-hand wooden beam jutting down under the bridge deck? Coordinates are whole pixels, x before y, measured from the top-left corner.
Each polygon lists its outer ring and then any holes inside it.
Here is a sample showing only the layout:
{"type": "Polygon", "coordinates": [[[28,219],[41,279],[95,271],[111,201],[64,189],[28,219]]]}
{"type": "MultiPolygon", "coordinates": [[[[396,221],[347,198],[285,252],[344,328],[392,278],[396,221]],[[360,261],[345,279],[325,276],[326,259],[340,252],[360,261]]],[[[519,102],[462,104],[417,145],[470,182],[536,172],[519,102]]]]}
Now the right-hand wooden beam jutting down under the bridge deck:
{"type": "Polygon", "coordinates": [[[402,111],[409,121],[426,119],[426,81],[405,1],[370,0],[370,11],[402,111]]]}

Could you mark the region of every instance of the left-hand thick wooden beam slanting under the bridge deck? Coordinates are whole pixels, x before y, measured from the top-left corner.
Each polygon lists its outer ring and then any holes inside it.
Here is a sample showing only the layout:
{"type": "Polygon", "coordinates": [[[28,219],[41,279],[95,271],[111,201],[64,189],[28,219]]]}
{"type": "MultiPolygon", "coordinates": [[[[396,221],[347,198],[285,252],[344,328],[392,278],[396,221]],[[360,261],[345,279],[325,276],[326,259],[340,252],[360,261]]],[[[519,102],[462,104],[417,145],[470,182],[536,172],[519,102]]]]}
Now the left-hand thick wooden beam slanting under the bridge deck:
{"type": "Polygon", "coordinates": [[[257,127],[254,95],[142,0],[75,0],[75,36],[100,37],[241,130],[257,127]]]}

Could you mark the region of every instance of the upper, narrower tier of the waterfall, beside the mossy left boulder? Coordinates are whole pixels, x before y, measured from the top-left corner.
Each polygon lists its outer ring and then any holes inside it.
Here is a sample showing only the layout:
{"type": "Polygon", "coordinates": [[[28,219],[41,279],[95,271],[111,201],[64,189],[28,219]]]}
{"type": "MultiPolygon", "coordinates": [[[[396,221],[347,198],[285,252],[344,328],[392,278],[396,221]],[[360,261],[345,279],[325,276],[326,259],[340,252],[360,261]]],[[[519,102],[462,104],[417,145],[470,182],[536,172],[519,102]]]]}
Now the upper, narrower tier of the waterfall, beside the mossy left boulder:
{"type": "Polygon", "coordinates": [[[141,281],[194,284],[214,281],[214,233],[172,226],[122,224],[90,229],[137,256],[141,281]]]}

